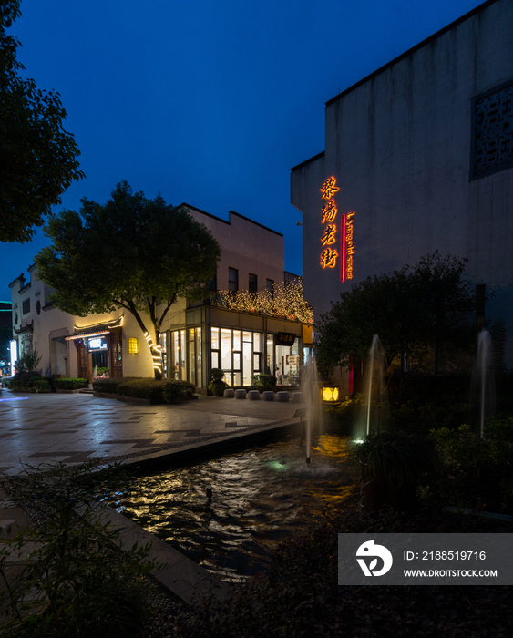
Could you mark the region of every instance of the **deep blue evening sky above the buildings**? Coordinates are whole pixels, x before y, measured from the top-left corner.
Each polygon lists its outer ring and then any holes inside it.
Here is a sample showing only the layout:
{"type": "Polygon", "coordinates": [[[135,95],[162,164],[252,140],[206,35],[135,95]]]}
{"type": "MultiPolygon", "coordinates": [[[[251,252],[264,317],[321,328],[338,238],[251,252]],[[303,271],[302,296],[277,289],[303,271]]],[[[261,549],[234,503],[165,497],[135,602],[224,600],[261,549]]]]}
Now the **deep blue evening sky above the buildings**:
{"type": "MultiPolygon", "coordinates": [[[[285,268],[303,273],[290,169],[324,149],[324,102],[479,4],[22,0],[18,59],[60,93],[86,173],[56,210],[128,180],[282,232],[285,268]]],[[[0,300],[46,242],[1,244],[0,300]]]]}

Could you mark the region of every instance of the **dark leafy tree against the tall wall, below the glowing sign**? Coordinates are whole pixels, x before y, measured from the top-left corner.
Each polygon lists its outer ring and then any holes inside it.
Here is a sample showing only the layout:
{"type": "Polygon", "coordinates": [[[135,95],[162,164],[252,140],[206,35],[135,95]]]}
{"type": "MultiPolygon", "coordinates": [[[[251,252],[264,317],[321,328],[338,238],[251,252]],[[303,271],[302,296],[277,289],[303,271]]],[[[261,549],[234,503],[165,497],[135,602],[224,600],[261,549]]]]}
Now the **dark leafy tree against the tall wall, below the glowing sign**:
{"type": "Polygon", "coordinates": [[[317,363],[323,374],[364,360],[378,334],[389,361],[407,355],[446,355],[473,343],[476,295],[466,280],[467,258],[436,251],[411,268],[354,283],[316,325],[317,363]]]}

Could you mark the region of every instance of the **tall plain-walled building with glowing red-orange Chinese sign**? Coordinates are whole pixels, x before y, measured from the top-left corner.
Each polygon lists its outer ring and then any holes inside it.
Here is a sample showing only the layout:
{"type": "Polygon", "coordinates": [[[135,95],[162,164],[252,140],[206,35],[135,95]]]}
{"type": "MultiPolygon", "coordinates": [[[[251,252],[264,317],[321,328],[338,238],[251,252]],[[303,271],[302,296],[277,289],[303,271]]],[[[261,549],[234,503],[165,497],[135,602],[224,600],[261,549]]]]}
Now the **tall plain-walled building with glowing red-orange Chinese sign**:
{"type": "Polygon", "coordinates": [[[511,0],[488,0],[329,100],[325,149],[292,169],[292,203],[317,318],[353,282],[436,250],[468,257],[477,324],[489,320],[513,365],[511,0]]]}

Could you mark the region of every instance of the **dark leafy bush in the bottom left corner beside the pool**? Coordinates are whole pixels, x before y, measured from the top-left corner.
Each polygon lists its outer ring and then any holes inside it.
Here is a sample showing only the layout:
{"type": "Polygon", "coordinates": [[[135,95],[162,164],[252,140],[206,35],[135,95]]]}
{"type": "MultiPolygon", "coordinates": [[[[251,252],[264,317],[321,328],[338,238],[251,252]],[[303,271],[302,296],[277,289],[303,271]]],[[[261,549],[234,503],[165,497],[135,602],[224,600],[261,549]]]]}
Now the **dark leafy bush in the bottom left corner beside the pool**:
{"type": "Polygon", "coordinates": [[[154,566],[146,560],[149,547],[119,550],[118,531],[103,527],[105,506],[93,499],[98,488],[126,486],[128,476],[119,466],[100,469],[94,462],[24,470],[0,484],[11,499],[39,512],[37,528],[10,540],[10,530],[3,530],[0,608],[7,614],[0,619],[2,637],[142,635],[149,612],[143,575],[154,566]],[[7,567],[13,551],[30,551],[31,561],[24,561],[17,575],[7,567]]]}

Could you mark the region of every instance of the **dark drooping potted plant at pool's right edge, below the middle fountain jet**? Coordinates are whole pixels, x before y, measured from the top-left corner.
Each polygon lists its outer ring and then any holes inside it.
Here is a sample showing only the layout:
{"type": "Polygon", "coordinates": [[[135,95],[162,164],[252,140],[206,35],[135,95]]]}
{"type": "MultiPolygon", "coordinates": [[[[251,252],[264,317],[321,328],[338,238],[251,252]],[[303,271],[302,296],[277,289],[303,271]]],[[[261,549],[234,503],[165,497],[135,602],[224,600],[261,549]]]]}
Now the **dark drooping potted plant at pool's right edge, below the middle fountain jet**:
{"type": "Polygon", "coordinates": [[[381,432],[354,443],[360,470],[360,504],[364,509],[410,509],[416,504],[418,477],[432,471],[436,450],[431,441],[405,432],[381,432]]]}

